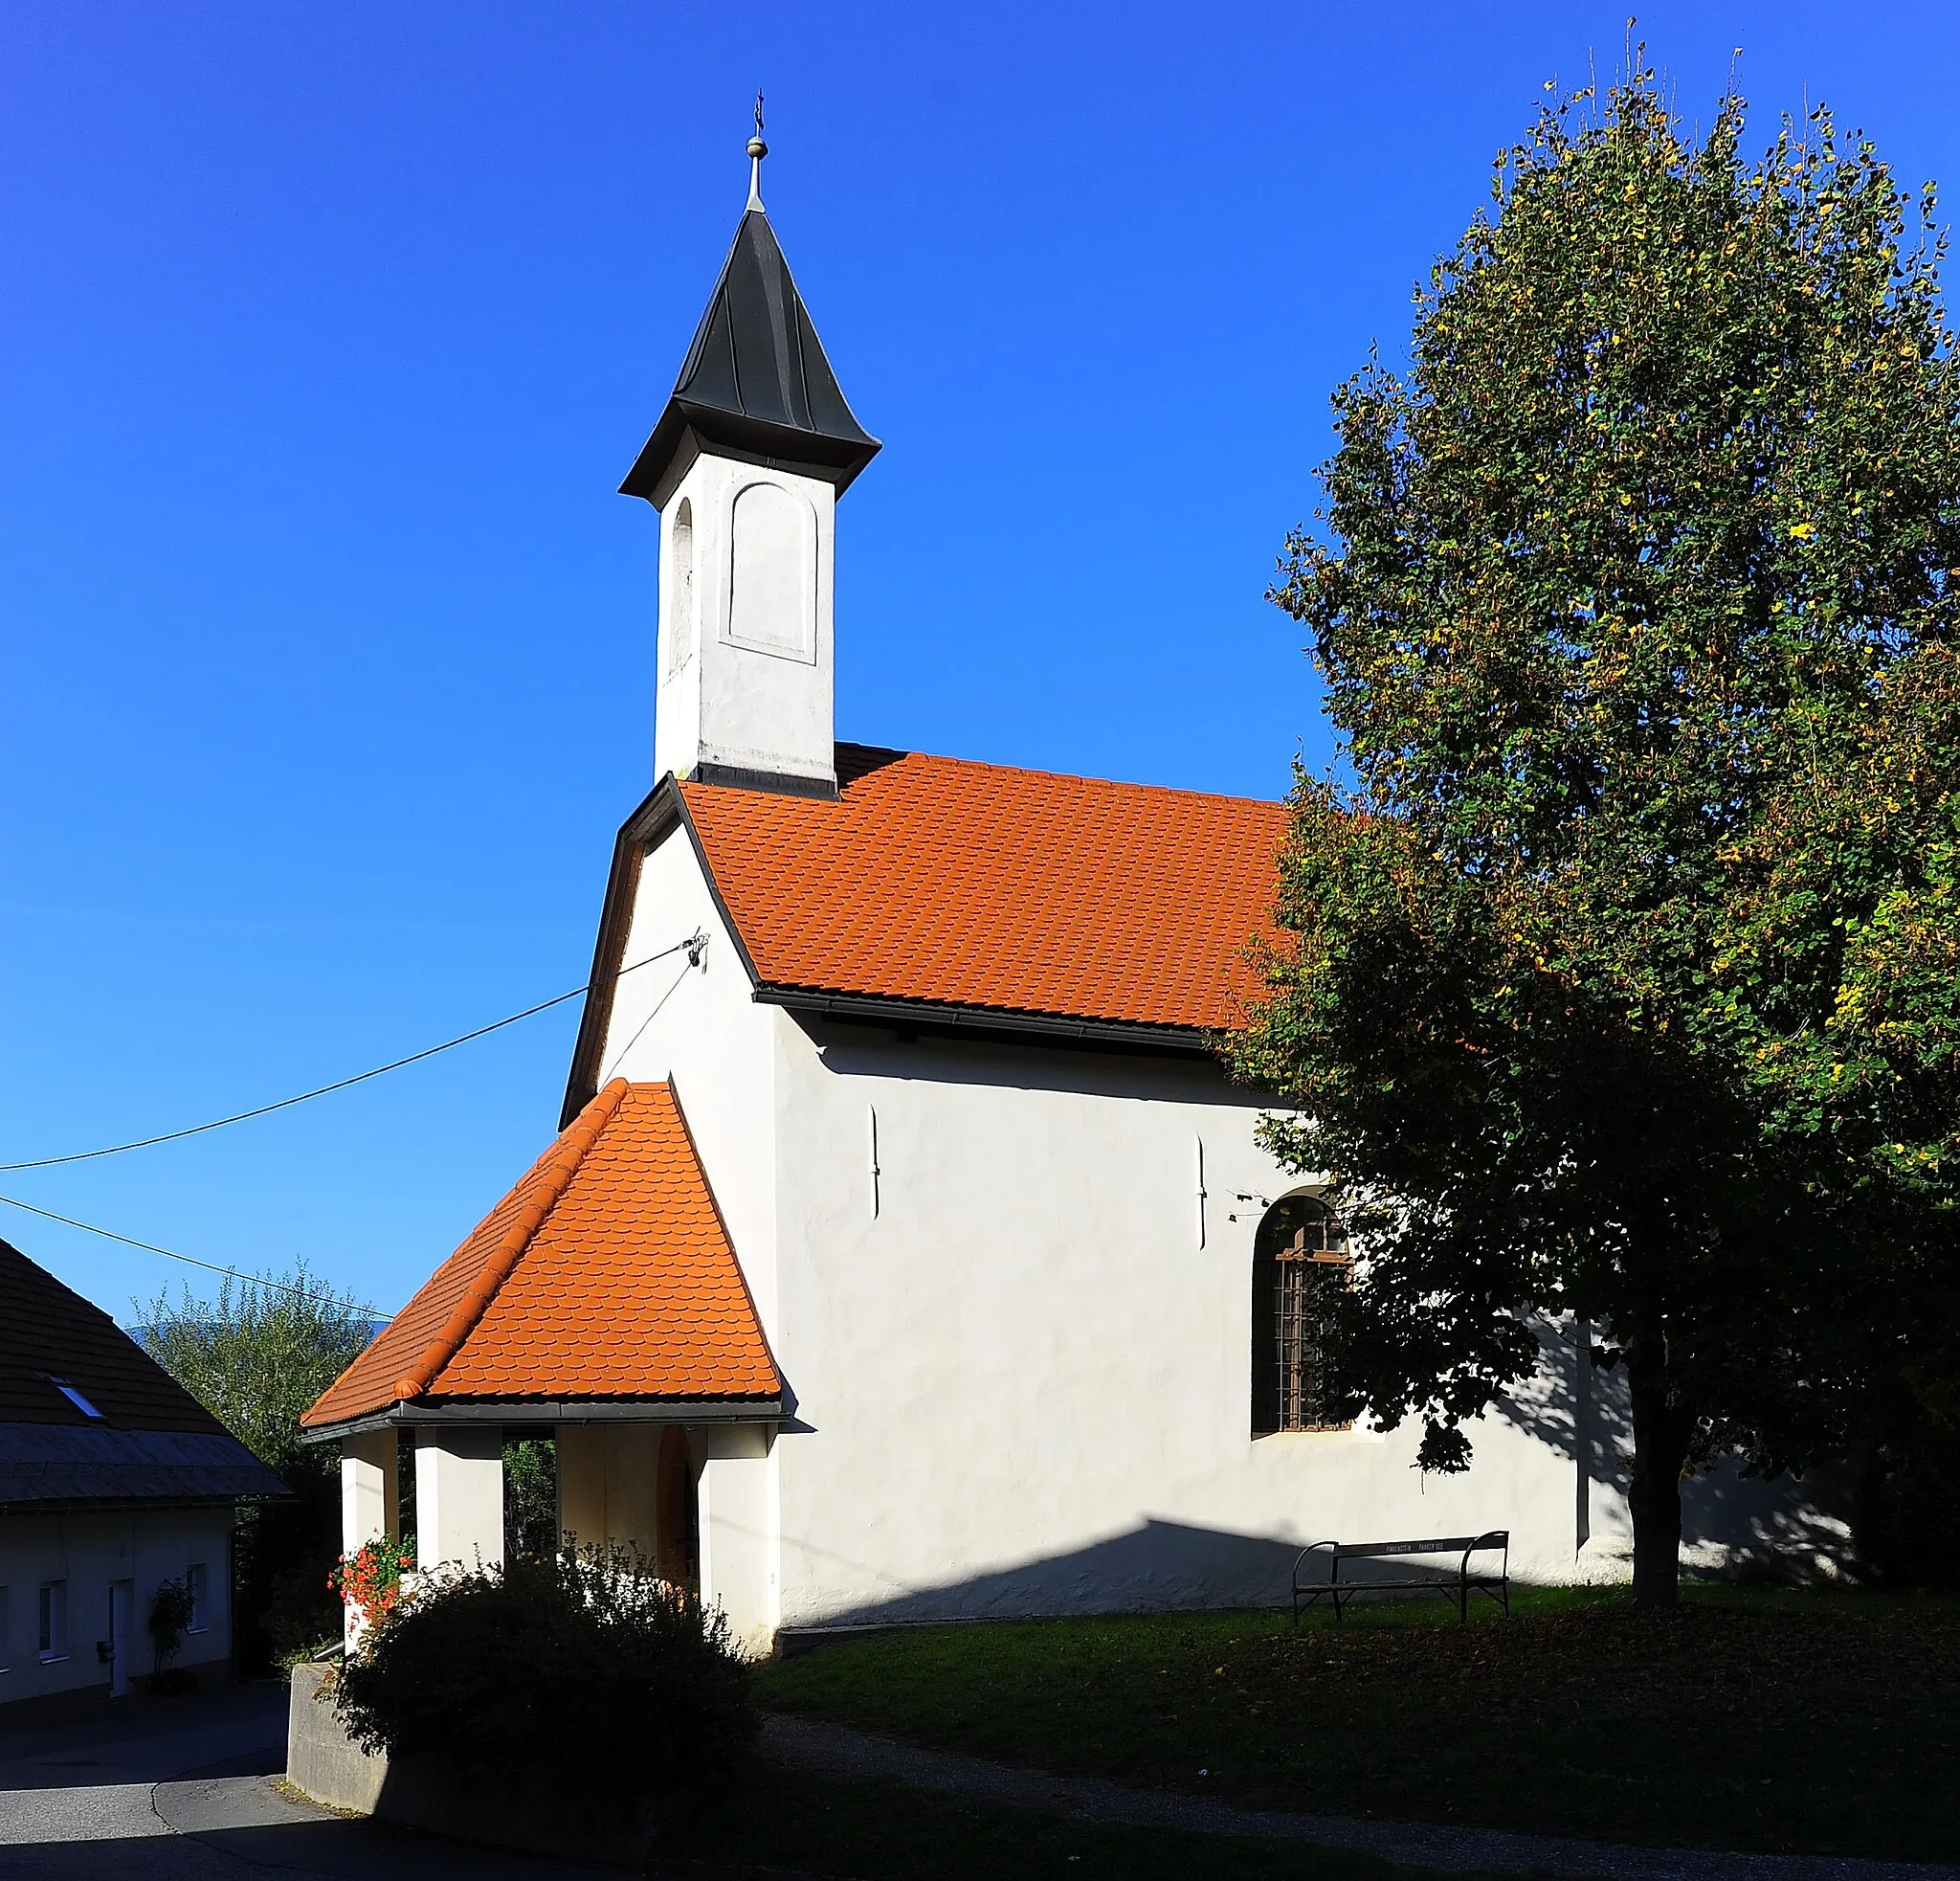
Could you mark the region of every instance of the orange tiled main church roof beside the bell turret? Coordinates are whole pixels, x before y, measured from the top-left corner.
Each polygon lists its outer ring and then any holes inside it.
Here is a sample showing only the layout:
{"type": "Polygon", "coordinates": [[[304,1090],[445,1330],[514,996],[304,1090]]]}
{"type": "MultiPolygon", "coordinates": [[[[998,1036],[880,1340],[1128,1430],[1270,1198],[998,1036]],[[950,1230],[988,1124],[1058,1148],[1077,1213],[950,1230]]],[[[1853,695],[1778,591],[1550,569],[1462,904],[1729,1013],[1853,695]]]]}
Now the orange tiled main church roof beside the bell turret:
{"type": "Polygon", "coordinates": [[[766,987],[1223,1028],[1286,806],[839,745],[835,802],[680,785],[766,987]]]}

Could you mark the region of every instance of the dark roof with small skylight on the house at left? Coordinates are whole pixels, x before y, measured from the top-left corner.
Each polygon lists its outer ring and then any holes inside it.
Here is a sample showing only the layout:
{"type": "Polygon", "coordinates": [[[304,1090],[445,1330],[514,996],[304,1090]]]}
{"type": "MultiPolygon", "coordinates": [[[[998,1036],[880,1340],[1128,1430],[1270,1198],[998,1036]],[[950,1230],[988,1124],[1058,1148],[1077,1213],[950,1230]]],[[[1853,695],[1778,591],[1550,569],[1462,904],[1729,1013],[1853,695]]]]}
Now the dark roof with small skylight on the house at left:
{"type": "Polygon", "coordinates": [[[284,1493],[100,1306],[0,1242],[0,1502],[284,1493]]]}

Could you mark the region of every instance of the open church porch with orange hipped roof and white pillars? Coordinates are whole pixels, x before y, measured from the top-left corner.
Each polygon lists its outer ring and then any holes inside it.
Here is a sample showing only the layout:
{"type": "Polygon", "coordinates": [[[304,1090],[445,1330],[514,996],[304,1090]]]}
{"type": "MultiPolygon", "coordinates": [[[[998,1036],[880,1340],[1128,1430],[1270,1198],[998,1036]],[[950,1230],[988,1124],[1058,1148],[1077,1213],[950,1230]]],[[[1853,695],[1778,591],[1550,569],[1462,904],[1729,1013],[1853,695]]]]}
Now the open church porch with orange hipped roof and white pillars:
{"type": "Polygon", "coordinates": [[[508,1459],[527,1493],[549,1461],[531,1548],[635,1550],[766,1650],[784,1398],[672,1089],[615,1081],[302,1422],[339,1448],[343,1553],[498,1565],[508,1459]]]}

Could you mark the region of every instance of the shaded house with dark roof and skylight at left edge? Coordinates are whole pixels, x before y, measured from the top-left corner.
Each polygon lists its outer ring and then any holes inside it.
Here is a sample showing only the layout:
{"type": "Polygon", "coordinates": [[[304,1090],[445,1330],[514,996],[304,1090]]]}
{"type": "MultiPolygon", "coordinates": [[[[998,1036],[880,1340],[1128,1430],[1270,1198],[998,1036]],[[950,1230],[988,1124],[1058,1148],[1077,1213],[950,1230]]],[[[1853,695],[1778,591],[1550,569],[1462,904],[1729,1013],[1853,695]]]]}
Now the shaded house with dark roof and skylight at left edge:
{"type": "Polygon", "coordinates": [[[0,1242],[0,1703],[151,1669],[165,1581],[174,1663],[231,1659],[231,1520],[272,1475],[106,1312],[0,1242]]]}

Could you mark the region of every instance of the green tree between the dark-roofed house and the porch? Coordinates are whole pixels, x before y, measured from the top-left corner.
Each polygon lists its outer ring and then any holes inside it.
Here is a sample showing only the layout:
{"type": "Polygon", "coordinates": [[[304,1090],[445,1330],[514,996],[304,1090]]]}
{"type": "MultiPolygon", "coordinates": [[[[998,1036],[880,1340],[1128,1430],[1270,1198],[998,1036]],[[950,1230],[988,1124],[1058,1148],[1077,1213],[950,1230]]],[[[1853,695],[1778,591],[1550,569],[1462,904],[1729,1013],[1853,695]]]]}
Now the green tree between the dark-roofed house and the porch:
{"type": "MultiPolygon", "coordinates": [[[[247,1506],[237,1536],[239,1616],[276,1652],[339,1632],[327,1575],[341,1544],[337,1455],[300,1442],[300,1414],[372,1334],[367,1312],[321,1287],[304,1261],[290,1273],[233,1281],[216,1300],[182,1289],[139,1310],[137,1336],[171,1377],[261,1463],[292,1502],[247,1506]]],[[[239,1630],[239,1650],[265,1650],[239,1630]]]]}

